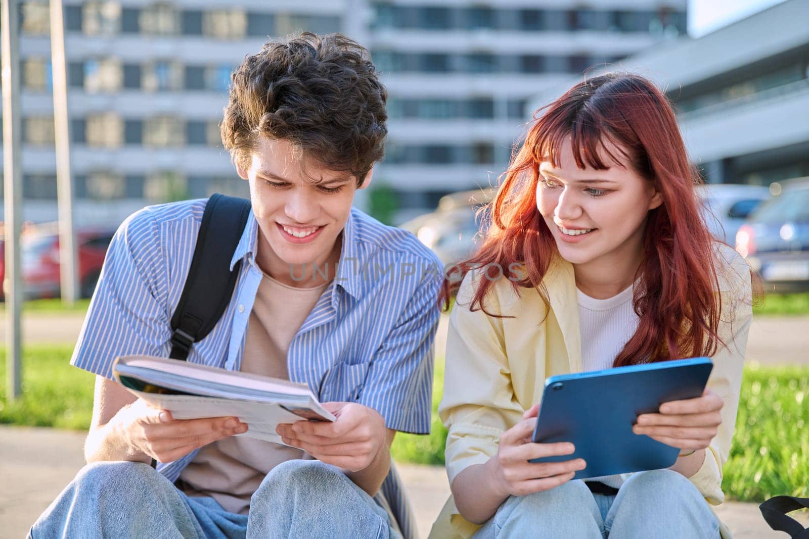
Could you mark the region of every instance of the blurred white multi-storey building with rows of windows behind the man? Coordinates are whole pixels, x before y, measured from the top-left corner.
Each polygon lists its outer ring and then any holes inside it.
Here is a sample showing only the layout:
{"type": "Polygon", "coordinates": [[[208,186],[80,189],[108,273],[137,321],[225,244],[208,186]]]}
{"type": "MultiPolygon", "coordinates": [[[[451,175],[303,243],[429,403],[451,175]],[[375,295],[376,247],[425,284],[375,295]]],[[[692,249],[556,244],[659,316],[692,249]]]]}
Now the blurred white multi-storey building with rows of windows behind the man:
{"type": "MultiPolygon", "coordinates": [[[[536,87],[685,32],[686,0],[65,0],[78,224],[144,204],[247,195],[218,121],[231,69],[268,36],[344,32],[389,91],[375,183],[396,221],[493,182],[536,87]]],[[[56,217],[47,2],[21,7],[24,217],[56,217]]],[[[361,205],[367,204],[360,200],[361,205]]]]}

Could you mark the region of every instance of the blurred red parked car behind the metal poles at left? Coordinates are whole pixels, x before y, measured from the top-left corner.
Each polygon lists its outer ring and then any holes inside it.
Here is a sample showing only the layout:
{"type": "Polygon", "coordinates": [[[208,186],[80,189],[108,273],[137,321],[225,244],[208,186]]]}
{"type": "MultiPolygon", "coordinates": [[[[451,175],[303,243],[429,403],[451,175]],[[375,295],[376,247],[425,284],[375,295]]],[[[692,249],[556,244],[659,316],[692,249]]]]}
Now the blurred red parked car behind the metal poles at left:
{"type": "MultiPolygon", "coordinates": [[[[104,264],[114,229],[76,231],[78,286],[81,297],[91,297],[104,264]]],[[[20,237],[20,267],[26,299],[58,297],[60,293],[59,234],[56,223],[33,225],[20,237]]],[[[5,251],[0,251],[0,279],[6,275],[5,251]]]]}

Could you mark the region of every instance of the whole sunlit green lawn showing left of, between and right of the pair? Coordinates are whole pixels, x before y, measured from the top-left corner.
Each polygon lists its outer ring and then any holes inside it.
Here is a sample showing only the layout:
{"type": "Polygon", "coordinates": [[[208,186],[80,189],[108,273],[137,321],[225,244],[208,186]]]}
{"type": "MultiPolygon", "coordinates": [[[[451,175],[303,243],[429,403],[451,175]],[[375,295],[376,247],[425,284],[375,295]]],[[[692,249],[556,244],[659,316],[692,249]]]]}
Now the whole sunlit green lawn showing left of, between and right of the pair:
{"type": "MultiPolygon", "coordinates": [[[[23,353],[23,397],[6,399],[5,351],[0,350],[0,423],[86,429],[93,376],[70,367],[68,346],[32,346],[23,353]]],[[[443,385],[435,368],[433,410],[443,385]]],[[[399,434],[397,461],[442,465],[447,430],[433,415],[430,436],[399,434]]],[[[760,502],[773,495],[809,495],[809,368],[745,368],[739,419],[723,488],[728,499],[760,502]]]]}

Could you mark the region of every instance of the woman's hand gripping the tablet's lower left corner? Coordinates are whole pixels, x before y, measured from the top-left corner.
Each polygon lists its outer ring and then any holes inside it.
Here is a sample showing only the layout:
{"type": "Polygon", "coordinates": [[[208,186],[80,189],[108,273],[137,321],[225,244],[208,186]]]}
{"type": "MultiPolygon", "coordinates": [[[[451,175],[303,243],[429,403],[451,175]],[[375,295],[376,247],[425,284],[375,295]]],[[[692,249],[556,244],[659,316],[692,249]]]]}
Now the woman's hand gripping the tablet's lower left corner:
{"type": "Polygon", "coordinates": [[[539,405],[523,414],[523,420],[500,436],[496,458],[489,460],[492,484],[498,495],[506,497],[525,496],[535,492],[548,491],[570,481],[578,470],[584,470],[587,463],[576,458],[561,462],[532,463],[529,460],[540,457],[561,457],[574,453],[574,445],[568,442],[537,444],[531,440],[539,405]]]}

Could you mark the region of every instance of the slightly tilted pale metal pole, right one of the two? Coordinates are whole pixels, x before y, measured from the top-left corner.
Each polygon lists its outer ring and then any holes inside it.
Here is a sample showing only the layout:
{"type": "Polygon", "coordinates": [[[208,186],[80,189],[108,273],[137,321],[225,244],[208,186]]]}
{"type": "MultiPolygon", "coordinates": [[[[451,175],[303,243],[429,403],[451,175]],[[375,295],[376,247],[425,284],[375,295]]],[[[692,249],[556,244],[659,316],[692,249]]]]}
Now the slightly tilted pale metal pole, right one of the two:
{"type": "Polygon", "coordinates": [[[76,236],[73,229],[73,180],[70,176],[70,120],[67,113],[65,25],[62,13],[61,0],[50,0],[61,302],[63,305],[73,305],[78,299],[78,278],[76,275],[76,236]]]}

